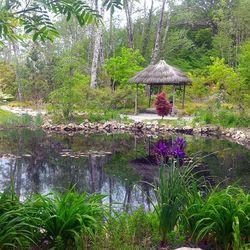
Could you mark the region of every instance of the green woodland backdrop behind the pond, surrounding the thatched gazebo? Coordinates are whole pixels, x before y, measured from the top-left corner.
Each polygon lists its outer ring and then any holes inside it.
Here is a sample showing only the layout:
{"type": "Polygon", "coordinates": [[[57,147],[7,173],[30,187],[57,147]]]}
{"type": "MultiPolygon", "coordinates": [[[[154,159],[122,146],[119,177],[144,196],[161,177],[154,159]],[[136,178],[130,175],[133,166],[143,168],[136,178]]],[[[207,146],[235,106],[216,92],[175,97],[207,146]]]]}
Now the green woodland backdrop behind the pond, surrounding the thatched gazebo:
{"type": "MultiPolygon", "coordinates": [[[[128,80],[164,59],[193,81],[181,114],[249,126],[250,0],[124,0],[115,10],[104,2],[88,2],[102,16],[98,25],[58,15],[53,42],[29,34],[4,40],[0,98],[46,104],[55,121],[73,119],[76,111],[131,113],[135,86],[128,80]]],[[[163,90],[171,99],[171,88],[163,90]]],[[[143,110],[144,86],[139,94],[143,110]]]]}

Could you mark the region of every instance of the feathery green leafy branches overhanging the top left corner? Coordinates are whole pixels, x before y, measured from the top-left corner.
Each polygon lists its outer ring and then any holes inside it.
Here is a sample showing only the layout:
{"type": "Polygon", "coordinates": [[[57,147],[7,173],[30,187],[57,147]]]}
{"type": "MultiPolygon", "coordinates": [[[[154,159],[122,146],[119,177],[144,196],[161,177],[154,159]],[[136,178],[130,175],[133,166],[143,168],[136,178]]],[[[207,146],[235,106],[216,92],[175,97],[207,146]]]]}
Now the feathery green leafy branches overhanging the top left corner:
{"type": "MultiPolygon", "coordinates": [[[[105,0],[107,9],[121,8],[120,0],[105,0]]],[[[53,40],[59,33],[52,22],[51,14],[72,17],[81,26],[99,22],[100,15],[83,0],[33,0],[26,5],[21,0],[5,0],[0,3],[0,41],[22,39],[32,34],[32,39],[53,40]],[[22,32],[22,30],[24,32],[22,32]]]]}

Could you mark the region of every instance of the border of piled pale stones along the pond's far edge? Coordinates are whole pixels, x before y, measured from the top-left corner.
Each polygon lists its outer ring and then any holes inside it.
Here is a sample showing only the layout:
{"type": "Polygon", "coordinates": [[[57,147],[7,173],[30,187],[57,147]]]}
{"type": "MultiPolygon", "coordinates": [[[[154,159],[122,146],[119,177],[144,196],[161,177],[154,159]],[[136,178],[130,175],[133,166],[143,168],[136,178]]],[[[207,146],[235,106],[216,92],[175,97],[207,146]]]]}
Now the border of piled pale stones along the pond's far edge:
{"type": "Polygon", "coordinates": [[[164,135],[168,133],[180,133],[187,135],[203,135],[209,137],[225,138],[238,144],[250,148],[250,129],[229,128],[225,129],[220,126],[202,126],[182,128],[172,125],[158,125],[157,122],[134,122],[130,124],[118,123],[116,121],[108,122],[85,122],[81,124],[69,123],[52,125],[45,123],[42,128],[46,132],[57,132],[66,134],[93,134],[93,133],[133,133],[141,136],[164,135]]]}

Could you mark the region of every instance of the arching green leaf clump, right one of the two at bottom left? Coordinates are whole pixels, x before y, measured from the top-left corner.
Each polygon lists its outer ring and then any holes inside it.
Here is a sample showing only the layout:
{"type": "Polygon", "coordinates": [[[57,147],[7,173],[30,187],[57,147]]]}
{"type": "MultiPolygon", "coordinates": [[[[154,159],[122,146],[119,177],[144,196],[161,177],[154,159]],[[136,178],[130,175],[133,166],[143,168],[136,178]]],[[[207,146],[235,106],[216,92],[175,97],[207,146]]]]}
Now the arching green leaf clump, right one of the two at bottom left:
{"type": "Polygon", "coordinates": [[[41,219],[37,226],[44,232],[42,240],[48,240],[55,249],[73,246],[82,249],[86,239],[103,226],[103,198],[99,194],[68,191],[50,196],[37,194],[27,204],[32,206],[32,212],[41,219]]]}

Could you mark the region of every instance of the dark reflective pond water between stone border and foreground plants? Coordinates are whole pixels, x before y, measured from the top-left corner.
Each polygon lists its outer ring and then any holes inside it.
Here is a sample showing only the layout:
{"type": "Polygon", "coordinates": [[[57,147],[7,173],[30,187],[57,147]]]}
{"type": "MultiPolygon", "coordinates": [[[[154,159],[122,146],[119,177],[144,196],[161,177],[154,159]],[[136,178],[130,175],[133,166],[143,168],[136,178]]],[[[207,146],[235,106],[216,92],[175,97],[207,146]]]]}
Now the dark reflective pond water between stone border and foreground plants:
{"type": "Polygon", "coordinates": [[[0,191],[14,181],[21,197],[33,192],[79,191],[107,194],[107,203],[124,207],[149,205],[158,166],[138,164],[152,154],[159,140],[186,141],[185,154],[199,153],[215,182],[237,183],[250,189],[250,150],[226,140],[169,135],[136,138],[131,134],[62,135],[42,130],[0,131],[0,191]],[[144,181],[144,182],[143,182],[144,181]]]}

